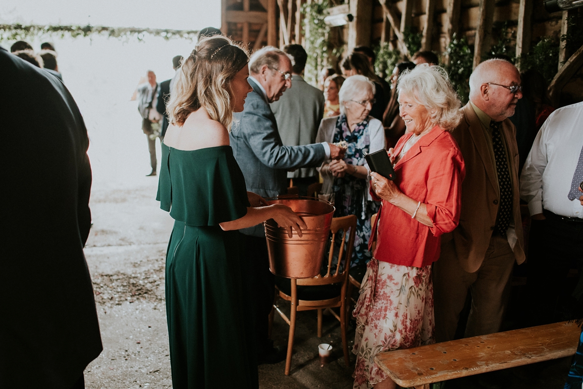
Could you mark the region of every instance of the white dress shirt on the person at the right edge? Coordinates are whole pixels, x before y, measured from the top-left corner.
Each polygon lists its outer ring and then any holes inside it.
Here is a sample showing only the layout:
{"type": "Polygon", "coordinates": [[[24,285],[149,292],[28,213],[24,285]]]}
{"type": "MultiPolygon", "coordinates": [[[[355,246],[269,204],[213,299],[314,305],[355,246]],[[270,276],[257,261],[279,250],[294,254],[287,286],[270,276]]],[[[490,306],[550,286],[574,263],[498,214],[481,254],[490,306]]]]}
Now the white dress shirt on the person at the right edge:
{"type": "Polygon", "coordinates": [[[554,111],[536,135],[522,168],[520,197],[528,201],[531,215],[545,208],[557,215],[583,218],[579,197],[573,201],[567,197],[582,147],[583,102],[554,111]]]}

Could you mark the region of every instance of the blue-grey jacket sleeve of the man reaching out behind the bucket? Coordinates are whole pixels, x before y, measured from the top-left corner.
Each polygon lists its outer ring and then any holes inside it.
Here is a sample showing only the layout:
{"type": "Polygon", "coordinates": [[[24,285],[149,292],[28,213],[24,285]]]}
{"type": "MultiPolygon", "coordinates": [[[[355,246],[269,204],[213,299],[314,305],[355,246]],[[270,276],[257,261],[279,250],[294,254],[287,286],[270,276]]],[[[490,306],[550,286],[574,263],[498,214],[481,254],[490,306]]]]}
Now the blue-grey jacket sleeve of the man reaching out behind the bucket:
{"type": "Polygon", "coordinates": [[[266,166],[273,169],[297,169],[317,167],[326,157],[324,146],[283,146],[278,130],[270,119],[269,105],[262,101],[245,107],[241,122],[244,123],[246,141],[253,153],[266,166]]]}

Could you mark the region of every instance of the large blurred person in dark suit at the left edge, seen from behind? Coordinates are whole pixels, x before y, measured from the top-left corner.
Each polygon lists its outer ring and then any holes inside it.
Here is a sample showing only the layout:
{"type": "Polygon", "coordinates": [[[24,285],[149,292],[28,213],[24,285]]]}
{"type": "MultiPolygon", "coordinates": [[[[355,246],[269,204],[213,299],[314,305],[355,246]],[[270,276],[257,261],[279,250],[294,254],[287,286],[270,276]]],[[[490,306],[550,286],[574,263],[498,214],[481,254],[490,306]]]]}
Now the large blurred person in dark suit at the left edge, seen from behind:
{"type": "Polygon", "coordinates": [[[89,139],[55,77],[0,47],[0,388],[83,388],[101,352],[83,246],[89,139]]]}

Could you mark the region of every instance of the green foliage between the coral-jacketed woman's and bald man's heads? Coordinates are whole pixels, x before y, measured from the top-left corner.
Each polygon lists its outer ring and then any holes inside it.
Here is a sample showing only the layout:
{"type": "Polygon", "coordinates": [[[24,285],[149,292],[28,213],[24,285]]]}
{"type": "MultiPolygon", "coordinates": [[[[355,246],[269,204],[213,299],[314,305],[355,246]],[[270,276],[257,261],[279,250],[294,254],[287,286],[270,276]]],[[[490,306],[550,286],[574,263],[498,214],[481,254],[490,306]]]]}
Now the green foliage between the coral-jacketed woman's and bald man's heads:
{"type": "Polygon", "coordinates": [[[458,93],[459,100],[465,104],[469,98],[469,79],[473,67],[473,52],[466,37],[458,38],[454,34],[444,54],[449,57],[449,65],[445,66],[449,81],[458,93]]]}

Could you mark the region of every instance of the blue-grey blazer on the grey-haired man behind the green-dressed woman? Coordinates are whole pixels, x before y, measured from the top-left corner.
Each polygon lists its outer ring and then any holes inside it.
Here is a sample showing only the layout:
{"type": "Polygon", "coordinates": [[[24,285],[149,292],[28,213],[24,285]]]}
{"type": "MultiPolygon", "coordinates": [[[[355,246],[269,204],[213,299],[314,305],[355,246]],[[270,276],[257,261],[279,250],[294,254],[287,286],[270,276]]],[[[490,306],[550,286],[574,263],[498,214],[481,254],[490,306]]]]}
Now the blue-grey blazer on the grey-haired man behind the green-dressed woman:
{"type": "MultiPolygon", "coordinates": [[[[275,116],[259,86],[252,80],[253,91],[247,95],[243,112],[234,114],[231,129],[233,155],[245,176],[249,192],[263,197],[285,195],[286,171],[316,167],[324,161],[322,144],[283,146],[275,116]]],[[[264,236],[261,224],[242,229],[246,235],[264,236]]]]}

